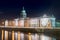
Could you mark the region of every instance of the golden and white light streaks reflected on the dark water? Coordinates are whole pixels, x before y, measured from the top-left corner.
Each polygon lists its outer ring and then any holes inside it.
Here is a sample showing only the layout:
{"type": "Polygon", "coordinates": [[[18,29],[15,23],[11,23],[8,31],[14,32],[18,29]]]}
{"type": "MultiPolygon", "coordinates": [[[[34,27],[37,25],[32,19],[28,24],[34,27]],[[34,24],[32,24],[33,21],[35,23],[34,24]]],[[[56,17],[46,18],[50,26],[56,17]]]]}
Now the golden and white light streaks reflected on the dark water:
{"type": "MultiPolygon", "coordinates": [[[[11,36],[12,40],[52,40],[52,37],[42,33],[41,34],[38,34],[38,33],[24,34],[23,32],[20,32],[20,31],[18,32],[12,31],[11,34],[12,34],[11,36]]],[[[2,30],[2,40],[10,40],[8,38],[9,38],[8,31],[5,31],[5,34],[4,34],[4,30],[2,30]]]]}

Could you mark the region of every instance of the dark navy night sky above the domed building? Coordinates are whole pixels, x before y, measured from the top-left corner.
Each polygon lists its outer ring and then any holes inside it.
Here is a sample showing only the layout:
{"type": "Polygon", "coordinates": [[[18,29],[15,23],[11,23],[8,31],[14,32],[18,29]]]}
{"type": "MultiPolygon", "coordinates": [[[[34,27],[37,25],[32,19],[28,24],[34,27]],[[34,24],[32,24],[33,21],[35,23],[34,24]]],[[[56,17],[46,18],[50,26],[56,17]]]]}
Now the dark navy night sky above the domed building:
{"type": "Polygon", "coordinates": [[[23,6],[28,17],[53,14],[60,20],[59,0],[0,0],[0,18],[19,17],[23,6]]]}

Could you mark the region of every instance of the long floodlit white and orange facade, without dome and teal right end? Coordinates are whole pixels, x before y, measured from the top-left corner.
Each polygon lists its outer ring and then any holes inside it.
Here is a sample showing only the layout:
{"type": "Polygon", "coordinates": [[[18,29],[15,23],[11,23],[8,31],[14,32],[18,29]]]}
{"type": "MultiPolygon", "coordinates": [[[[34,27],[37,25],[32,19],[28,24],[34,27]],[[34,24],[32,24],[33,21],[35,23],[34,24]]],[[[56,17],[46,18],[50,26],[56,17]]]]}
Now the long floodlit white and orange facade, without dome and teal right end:
{"type": "Polygon", "coordinates": [[[44,20],[40,18],[26,18],[0,21],[1,25],[10,27],[51,27],[51,21],[47,21],[45,18],[44,20]]]}

